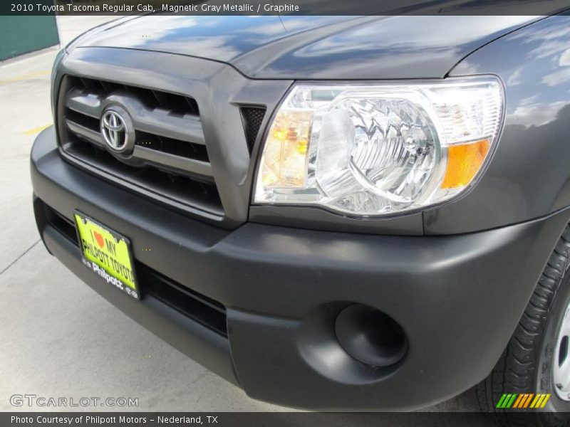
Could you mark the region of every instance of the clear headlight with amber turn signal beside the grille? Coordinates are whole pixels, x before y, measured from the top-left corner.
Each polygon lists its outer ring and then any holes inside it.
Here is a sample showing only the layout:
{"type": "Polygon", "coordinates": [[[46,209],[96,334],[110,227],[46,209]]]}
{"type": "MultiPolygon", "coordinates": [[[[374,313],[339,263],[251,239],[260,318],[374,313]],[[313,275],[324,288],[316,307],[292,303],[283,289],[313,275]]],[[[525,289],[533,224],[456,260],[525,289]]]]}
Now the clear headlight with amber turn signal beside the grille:
{"type": "Polygon", "coordinates": [[[296,85],[269,129],[254,202],[383,216],[447,201],[483,169],[503,104],[491,77],[296,85]]]}

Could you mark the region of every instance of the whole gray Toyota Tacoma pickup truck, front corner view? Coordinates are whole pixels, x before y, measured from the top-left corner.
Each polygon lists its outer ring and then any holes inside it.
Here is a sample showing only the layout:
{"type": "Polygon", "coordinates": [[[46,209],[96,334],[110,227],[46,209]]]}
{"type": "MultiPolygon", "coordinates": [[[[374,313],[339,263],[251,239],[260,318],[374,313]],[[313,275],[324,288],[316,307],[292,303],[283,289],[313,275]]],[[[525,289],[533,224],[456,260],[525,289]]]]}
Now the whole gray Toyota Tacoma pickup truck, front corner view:
{"type": "Polygon", "coordinates": [[[48,251],[255,399],[478,384],[559,425],[570,15],[281,19],[126,17],[63,49],[31,152],[48,251]]]}

